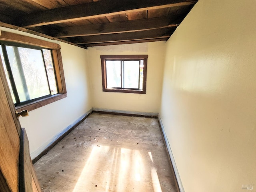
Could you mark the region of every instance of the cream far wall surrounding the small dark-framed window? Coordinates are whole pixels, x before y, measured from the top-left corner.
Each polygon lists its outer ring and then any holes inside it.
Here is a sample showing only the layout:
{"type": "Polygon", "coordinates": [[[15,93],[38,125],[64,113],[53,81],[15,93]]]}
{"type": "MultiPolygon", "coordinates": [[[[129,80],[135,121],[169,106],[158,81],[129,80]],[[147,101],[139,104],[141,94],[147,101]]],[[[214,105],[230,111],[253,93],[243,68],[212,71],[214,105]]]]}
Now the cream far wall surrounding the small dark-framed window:
{"type": "Polygon", "coordinates": [[[165,42],[88,48],[93,107],[132,112],[159,111],[165,42]],[[146,94],[102,92],[100,55],[148,54],[146,94]]]}

